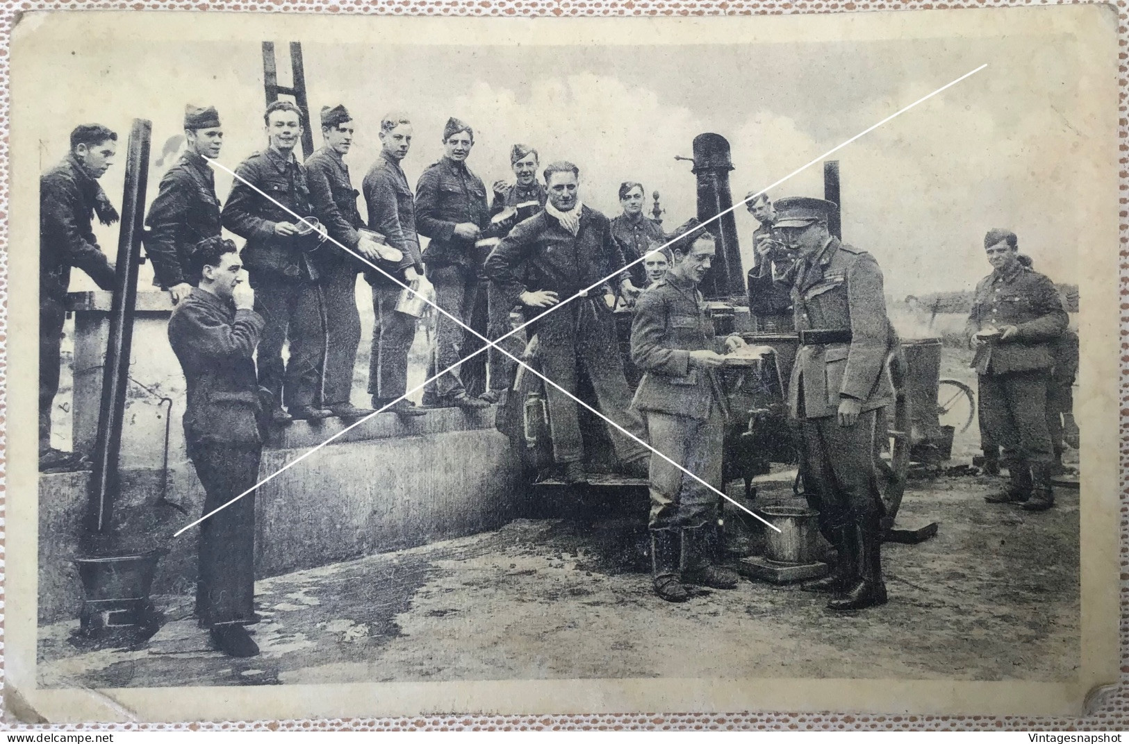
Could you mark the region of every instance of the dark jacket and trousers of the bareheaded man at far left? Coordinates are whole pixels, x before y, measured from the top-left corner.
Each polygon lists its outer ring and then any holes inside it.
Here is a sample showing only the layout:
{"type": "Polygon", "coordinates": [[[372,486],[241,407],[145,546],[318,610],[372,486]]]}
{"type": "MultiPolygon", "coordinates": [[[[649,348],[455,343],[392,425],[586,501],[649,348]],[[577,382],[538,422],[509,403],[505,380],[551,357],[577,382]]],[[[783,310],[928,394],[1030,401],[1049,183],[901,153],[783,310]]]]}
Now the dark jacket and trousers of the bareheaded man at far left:
{"type": "MultiPolygon", "coordinates": [[[[114,267],[91,230],[106,195],[73,156],[40,178],[40,451],[51,446],[51,409],[59,392],[60,345],[71,268],[103,290],[114,289],[114,267]]],[[[107,212],[108,210],[108,212],[107,212]]]]}

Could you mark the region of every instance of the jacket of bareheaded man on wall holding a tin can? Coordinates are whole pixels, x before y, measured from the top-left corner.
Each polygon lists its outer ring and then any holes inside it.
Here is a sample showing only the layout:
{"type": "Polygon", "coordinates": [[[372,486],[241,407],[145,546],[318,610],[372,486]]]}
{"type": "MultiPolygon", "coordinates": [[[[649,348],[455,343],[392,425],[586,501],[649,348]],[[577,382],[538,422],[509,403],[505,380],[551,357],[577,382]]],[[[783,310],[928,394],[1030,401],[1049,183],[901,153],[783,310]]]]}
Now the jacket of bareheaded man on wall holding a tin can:
{"type": "MultiPolygon", "coordinates": [[[[369,168],[361,184],[365,204],[368,207],[368,227],[379,232],[404,255],[399,265],[382,265],[380,268],[393,276],[409,266],[418,274],[423,273],[423,257],[420,254],[420,238],[415,234],[415,197],[412,196],[408,177],[399,162],[394,162],[384,151],[369,168]]],[[[388,277],[368,267],[365,278],[369,284],[395,284],[388,277]]]]}

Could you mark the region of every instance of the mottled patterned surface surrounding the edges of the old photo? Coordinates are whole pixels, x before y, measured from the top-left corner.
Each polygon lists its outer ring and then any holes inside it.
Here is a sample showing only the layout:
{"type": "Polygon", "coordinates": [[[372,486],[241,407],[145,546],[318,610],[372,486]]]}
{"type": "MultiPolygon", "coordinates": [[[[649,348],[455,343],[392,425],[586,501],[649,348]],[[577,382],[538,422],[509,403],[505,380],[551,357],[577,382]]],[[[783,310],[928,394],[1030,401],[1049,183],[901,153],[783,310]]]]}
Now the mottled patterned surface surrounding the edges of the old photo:
{"type": "MultiPolygon", "coordinates": [[[[20,12],[29,10],[227,10],[285,14],[365,14],[396,16],[750,16],[841,14],[868,10],[933,10],[953,8],[1039,7],[1048,5],[1083,5],[1048,2],[1048,0],[957,0],[929,2],[922,0],[251,0],[247,2],[192,2],[190,0],[134,0],[131,2],[43,2],[33,0],[0,1],[0,233],[5,246],[8,237],[8,64],[11,29],[20,12]]],[[[1092,5],[1092,3],[1085,3],[1092,5]]],[[[1110,5],[1118,10],[1119,85],[1118,138],[1121,205],[1120,218],[1120,293],[1121,303],[1121,446],[1120,462],[1129,460],[1129,0],[1110,5]]],[[[8,333],[7,258],[0,262],[0,344],[8,333]]],[[[7,355],[0,361],[0,384],[7,390],[7,355]]],[[[0,426],[7,427],[7,406],[0,402],[0,426]]],[[[0,475],[6,472],[6,453],[0,453],[0,475]]],[[[3,508],[0,486],[0,510],[3,508]]],[[[422,716],[410,718],[330,718],[320,720],[254,720],[186,724],[20,724],[19,702],[5,699],[3,727],[10,730],[1118,730],[1129,727],[1129,501],[1121,481],[1121,666],[1115,688],[1103,690],[1089,701],[1089,714],[1082,718],[1024,718],[1016,716],[867,716],[837,712],[640,712],[590,716],[422,716]],[[15,710],[14,710],[15,709],[15,710]]],[[[0,512],[2,514],[2,512],[0,512]]],[[[0,516],[0,579],[3,576],[5,523],[0,516]]],[[[3,586],[0,584],[0,645],[2,645],[3,586]]],[[[0,646],[2,647],[2,646],[0,646]]]]}

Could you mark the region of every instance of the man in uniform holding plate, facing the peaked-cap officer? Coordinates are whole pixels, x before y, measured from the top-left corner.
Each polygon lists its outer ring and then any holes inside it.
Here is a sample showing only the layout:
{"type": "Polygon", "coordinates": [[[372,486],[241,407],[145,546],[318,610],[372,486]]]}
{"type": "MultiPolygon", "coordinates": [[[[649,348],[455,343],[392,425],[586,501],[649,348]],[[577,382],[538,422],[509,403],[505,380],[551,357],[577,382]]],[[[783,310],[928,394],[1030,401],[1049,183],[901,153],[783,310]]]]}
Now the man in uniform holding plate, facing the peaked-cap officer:
{"type": "MultiPolygon", "coordinates": [[[[698,291],[716,248],[697,220],[676,232],[682,237],[671,246],[673,266],[636,304],[631,358],[644,377],[632,406],[644,411],[655,450],[721,488],[725,401],[714,370],[723,357],[698,291]]],[[[684,584],[735,588],[737,575],[714,565],[719,557],[715,493],[662,458],[650,459],[649,482],[655,592],[684,602],[684,584]],[[680,556],[685,556],[681,572],[680,556]]]]}

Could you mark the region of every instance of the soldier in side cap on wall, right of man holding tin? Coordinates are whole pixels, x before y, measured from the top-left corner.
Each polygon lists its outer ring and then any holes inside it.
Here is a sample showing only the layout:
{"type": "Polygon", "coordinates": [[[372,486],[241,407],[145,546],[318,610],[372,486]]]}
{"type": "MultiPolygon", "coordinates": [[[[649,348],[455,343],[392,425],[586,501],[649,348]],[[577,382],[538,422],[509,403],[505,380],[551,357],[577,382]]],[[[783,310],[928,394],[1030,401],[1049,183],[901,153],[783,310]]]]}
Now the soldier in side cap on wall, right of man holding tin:
{"type": "MultiPolygon", "coordinates": [[[[423,171],[415,186],[415,222],[420,233],[431,239],[423,251],[423,263],[427,277],[435,286],[436,304],[471,326],[481,285],[481,259],[475,255],[474,242],[487,227],[490,211],[482,179],[466,167],[466,158],[474,147],[474,130],[450,117],[443,130],[443,144],[446,153],[423,171]]],[[[485,335],[485,325],[475,330],[485,335]]],[[[463,327],[438,315],[428,378],[457,365],[469,348],[463,327]]],[[[425,397],[434,397],[440,406],[465,409],[490,405],[467,393],[457,367],[429,386],[425,397]]]]}

